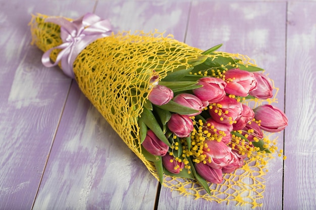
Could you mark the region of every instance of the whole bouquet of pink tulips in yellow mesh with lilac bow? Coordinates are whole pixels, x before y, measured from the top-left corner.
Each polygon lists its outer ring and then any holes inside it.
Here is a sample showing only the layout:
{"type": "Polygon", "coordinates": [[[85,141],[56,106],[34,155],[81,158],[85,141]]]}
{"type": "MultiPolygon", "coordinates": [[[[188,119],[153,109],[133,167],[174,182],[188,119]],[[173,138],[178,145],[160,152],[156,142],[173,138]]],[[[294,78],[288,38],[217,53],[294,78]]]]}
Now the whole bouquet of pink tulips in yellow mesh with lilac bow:
{"type": "Polygon", "coordinates": [[[37,14],[30,26],[43,64],[77,81],[161,184],[260,205],[265,165],[283,156],[270,136],[287,117],[271,105],[278,89],[254,60],[157,31],[114,34],[108,20],[89,13],[77,20],[37,14]]]}

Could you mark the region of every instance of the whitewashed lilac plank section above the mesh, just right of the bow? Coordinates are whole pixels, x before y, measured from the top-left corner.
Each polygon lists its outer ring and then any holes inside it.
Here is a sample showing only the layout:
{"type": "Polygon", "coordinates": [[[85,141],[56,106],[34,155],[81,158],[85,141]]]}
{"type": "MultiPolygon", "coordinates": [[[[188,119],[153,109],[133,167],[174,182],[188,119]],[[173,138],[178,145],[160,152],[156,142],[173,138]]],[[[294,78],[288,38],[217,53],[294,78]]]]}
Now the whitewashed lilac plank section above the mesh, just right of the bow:
{"type": "Polygon", "coordinates": [[[183,41],[189,6],[188,1],[99,1],[95,14],[109,18],[115,32],[157,29],[183,41]]]}

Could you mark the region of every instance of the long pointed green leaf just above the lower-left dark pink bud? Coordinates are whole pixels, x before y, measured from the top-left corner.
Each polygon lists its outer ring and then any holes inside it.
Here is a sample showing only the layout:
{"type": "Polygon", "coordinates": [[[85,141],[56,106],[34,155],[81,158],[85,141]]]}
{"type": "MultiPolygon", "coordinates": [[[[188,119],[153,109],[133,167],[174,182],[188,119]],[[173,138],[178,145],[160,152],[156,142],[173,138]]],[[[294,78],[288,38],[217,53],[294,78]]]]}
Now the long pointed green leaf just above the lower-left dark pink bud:
{"type": "Polygon", "coordinates": [[[147,125],[147,127],[149,127],[149,129],[152,130],[152,132],[159,139],[161,139],[161,141],[163,141],[166,145],[171,147],[168,139],[165,136],[165,133],[163,132],[163,130],[159,126],[156,118],[154,117],[154,115],[152,114],[152,112],[150,110],[146,109],[146,107],[144,107],[144,111],[141,114],[141,118],[142,118],[143,122],[147,125]]]}

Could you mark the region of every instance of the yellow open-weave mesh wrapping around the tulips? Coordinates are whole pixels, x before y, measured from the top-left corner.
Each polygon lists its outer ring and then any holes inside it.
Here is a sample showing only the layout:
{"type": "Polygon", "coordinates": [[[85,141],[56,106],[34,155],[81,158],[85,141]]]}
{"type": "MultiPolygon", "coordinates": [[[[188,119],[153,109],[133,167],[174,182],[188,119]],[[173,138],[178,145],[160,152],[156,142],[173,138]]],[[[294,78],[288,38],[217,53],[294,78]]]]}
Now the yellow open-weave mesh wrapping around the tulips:
{"type": "MultiPolygon", "coordinates": [[[[38,14],[32,16],[30,22],[32,43],[42,51],[62,43],[60,27],[43,23],[46,17],[38,14]]],[[[51,53],[52,60],[56,59],[58,52],[54,50],[51,53]]],[[[73,64],[81,91],[157,179],[154,165],[141,153],[137,124],[150,92],[149,80],[154,74],[163,79],[176,68],[190,67],[189,62],[200,56],[201,52],[161,33],[122,32],[89,44],[73,64]]],[[[240,58],[244,64],[255,65],[253,60],[240,54],[217,52],[209,56],[217,55],[240,58]]],[[[266,156],[266,161],[271,158],[266,156]]],[[[165,176],[164,186],[183,195],[217,202],[234,201],[239,205],[249,203],[255,207],[261,205],[265,174],[265,160],[250,158],[241,169],[225,174],[223,184],[209,183],[212,195],[208,195],[203,187],[191,179],[165,176]]]]}

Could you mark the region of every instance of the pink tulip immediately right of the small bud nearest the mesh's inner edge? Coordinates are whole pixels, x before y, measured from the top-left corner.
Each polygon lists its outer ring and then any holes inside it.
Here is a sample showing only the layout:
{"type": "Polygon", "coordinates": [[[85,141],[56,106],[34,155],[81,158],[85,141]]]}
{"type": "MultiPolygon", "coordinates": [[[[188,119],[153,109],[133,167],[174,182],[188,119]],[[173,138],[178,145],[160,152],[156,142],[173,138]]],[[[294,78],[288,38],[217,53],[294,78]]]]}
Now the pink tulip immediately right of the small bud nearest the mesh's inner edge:
{"type": "Polygon", "coordinates": [[[205,107],[203,106],[203,103],[199,98],[188,93],[180,93],[179,95],[174,97],[173,101],[182,106],[186,106],[198,111],[197,113],[187,114],[187,116],[189,117],[200,114],[202,112],[202,108],[205,107]]]}

